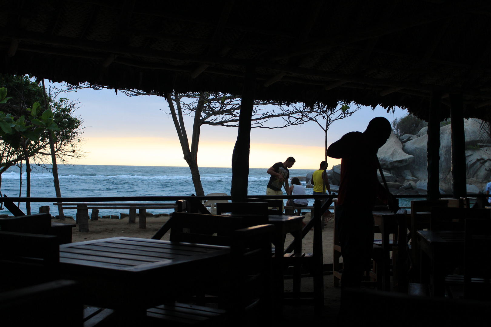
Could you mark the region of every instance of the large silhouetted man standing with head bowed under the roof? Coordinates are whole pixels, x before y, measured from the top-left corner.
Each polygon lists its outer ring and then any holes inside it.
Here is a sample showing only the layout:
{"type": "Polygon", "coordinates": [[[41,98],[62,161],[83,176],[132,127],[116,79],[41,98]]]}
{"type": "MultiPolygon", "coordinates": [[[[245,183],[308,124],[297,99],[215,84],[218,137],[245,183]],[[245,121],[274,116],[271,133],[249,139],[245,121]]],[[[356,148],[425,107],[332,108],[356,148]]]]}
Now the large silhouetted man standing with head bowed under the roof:
{"type": "Polygon", "coordinates": [[[335,210],[336,232],[341,241],[343,276],[341,288],[359,287],[373,250],[376,198],[391,201],[377,176],[377,151],[390,136],[387,119],[376,117],[367,129],[350,132],[327,149],[331,158],[341,158],[341,181],[335,210]]]}

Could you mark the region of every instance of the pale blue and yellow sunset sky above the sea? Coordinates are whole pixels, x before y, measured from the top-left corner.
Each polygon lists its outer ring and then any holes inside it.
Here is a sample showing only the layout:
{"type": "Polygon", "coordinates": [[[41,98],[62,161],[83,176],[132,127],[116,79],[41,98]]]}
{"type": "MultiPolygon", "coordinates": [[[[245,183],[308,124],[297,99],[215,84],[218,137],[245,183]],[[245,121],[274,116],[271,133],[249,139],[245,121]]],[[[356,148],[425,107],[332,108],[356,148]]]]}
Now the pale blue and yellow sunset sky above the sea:
{"type": "MultiPolygon", "coordinates": [[[[59,86],[59,84],[51,84],[59,86]]],[[[48,85],[47,85],[48,87],[48,85]]],[[[76,113],[85,122],[82,150],[85,155],[72,164],[129,166],[187,166],[168,104],[162,97],[128,97],[114,90],[82,89],[60,95],[80,101],[76,113]]],[[[327,132],[327,143],[350,131],[364,131],[368,122],[378,116],[403,117],[407,111],[394,113],[377,107],[362,107],[353,116],[334,122],[327,132]]],[[[279,119],[281,120],[281,119],[279,119]]],[[[192,120],[186,121],[191,137],[192,120]]],[[[274,121],[272,122],[274,124],[274,121]]],[[[272,125],[270,124],[270,125],[272,125]]],[[[280,122],[278,121],[278,124],[280,122]]],[[[202,126],[199,167],[231,167],[237,128],[202,126]]],[[[191,143],[191,139],[189,140],[191,143]]],[[[315,122],[282,129],[252,128],[250,168],[269,168],[287,157],[296,159],[293,169],[318,169],[324,160],[324,131],[315,122]]],[[[341,159],[327,158],[328,166],[341,159]]]]}

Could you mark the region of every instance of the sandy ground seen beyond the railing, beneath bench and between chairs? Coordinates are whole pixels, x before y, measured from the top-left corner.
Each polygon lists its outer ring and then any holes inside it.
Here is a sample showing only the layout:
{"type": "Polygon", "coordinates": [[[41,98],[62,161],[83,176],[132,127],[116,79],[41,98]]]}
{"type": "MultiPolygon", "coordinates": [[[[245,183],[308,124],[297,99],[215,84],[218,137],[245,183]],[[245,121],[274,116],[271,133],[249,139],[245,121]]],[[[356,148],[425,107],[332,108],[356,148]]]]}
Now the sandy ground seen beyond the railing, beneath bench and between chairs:
{"type": "MultiPolygon", "coordinates": [[[[139,228],[138,216],[136,216],[136,224],[128,223],[128,218],[123,219],[103,219],[91,221],[89,219],[89,232],[79,232],[79,227],[74,227],[72,229],[72,242],[82,242],[97,240],[101,238],[116,237],[116,236],[130,236],[130,237],[141,237],[150,238],[157,230],[164,225],[164,223],[169,219],[169,216],[154,216],[147,217],[146,228],[139,228]]],[[[304,223],[310,220],[310,213],[305,215],[303,219],[304,223]]],[[[72,219],[67,219],[65,221],[53,219],[56,223],[70,223],[73,224],[72,219]]],[[[323,256],[324,263],[332,263],[332,242],[334,235],[334,222],[331,219],[327,221],[326,226],[322,230],[322,243],[323,243],[323,256]]],[[[169,239],[169,232],[164,235],[163,240],[169,239]]],[[[293,236],[287,235],[285,244],[290,244],[293,241],[293,236]]],[[[312,252],[313,249],[313,230],[309,231],[307,235],[302,240],[302,252],[312,252]]]]}

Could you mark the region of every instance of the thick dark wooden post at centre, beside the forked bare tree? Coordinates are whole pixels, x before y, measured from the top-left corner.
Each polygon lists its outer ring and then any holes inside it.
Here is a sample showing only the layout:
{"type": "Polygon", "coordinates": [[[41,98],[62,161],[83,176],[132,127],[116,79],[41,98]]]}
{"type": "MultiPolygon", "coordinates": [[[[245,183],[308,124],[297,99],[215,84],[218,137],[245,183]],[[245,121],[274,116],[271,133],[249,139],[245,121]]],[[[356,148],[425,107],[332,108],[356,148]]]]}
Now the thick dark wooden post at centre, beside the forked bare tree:
{"type": "Polygon", "coordinates": [[[247,198],[247,179],[249,177],[250,125],[254,107],[256,88],[255,68],[246,67],[244,88],[242,90],[241,113],[234,152],[232,153],[232,202],[247,198]]]}

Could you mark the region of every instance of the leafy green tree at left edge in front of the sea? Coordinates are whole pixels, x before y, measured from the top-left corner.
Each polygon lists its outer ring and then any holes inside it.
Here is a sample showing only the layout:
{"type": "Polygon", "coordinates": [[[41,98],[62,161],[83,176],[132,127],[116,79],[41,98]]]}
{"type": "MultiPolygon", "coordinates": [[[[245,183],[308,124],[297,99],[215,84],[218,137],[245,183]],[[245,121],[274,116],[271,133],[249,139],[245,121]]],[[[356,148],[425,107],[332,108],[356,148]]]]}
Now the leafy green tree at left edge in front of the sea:
{"type": "MultiPolygon", "coordinates": [[[[11,96],[0,104],[0,187],[1,173],[25,160],[26,193],[30,197],[30,159],[36,164],[44,164],[51,157],[53,167],[56,167],[56,157],[64,161],[66,157],[82,155],[79,137],[82,121],[74,115],[77,102],[66,99],[54,101],[27,75],[0,75],[0,82],[0,86],[5,92],[9,90],[11,96]],[[32,107],[28,107],[30,103],[33,103],[32,107]],[[40,103],[44,103],[44,106],[40,103]]],[[[54,175],[56,180],[55,170],[54,175]]],[[[59,183],[56,195],[61,196],[59,183]]],[[[29,213],[29,203],[26,206],[29,213]]],[[[62,212],[60,216],[64,218],[62,212]]]]}

